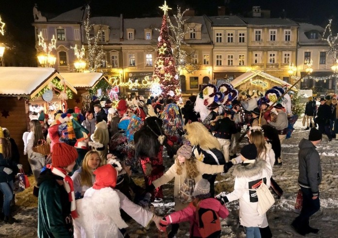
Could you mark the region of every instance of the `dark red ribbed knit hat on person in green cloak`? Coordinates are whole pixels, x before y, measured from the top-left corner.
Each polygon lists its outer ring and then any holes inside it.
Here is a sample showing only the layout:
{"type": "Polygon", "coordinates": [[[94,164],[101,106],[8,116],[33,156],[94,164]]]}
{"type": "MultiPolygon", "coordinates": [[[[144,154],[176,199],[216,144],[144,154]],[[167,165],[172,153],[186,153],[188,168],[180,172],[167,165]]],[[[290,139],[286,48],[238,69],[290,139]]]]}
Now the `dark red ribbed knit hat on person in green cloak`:
{"type": "Polygon", "coordinates": [[[51,163],[53,167],[67,167],[78,158],[76,149],[66,143],[55,143],[52,151],[51,163]]]}

